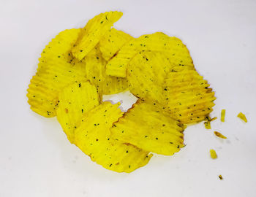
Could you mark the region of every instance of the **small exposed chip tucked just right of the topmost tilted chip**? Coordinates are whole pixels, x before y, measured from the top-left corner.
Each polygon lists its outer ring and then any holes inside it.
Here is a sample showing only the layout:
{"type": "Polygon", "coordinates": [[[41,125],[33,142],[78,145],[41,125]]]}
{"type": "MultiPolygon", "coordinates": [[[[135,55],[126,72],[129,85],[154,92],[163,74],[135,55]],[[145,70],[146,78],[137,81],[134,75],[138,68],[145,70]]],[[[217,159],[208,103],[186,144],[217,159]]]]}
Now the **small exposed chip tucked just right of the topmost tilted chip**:
{"type": "Polygon", "coordinates": [[[113,58],[118,50],[120,50],[121,47],[131,39],[133,39],[133,37],[124,33],[124,31],[118,31],[116,28],[111,28],[99,41],[99,48],[102,52],[102,57],[105,61],[109,61],[110,58],[113,58]]]}

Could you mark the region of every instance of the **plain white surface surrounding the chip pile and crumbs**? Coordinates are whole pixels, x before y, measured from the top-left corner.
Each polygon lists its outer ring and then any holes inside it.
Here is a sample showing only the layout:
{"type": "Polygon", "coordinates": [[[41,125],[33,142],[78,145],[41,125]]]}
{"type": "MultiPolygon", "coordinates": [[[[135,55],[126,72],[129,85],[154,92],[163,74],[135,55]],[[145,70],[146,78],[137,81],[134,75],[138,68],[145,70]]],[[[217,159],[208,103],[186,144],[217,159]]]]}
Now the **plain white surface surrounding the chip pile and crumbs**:
{"type": "Polygon", "coordinates": [[[0,196],[256,196],[256,1],[1,0],[0,24],[0,196]],[[124,12],[115,27],[132,36],[163,31],[182,39],[217,96],[213,129],[189,126],[178,154],[154,155],[131,174],[91,162],[26,98],[50,39],[109,10],[124,12]]]}

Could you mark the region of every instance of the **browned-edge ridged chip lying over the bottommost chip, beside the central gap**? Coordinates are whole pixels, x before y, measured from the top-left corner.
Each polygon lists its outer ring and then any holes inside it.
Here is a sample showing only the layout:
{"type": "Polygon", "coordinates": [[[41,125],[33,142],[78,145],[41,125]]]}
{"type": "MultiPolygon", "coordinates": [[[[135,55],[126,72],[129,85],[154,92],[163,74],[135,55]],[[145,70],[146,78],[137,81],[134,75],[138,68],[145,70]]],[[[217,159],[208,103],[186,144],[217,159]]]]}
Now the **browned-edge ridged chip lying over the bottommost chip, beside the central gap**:
{"type": "Polygon", "coordinates": [[[161,155],[184,147],[184,128],[157,107],[138,100],[110,129],[113,139],[161,155]]]}

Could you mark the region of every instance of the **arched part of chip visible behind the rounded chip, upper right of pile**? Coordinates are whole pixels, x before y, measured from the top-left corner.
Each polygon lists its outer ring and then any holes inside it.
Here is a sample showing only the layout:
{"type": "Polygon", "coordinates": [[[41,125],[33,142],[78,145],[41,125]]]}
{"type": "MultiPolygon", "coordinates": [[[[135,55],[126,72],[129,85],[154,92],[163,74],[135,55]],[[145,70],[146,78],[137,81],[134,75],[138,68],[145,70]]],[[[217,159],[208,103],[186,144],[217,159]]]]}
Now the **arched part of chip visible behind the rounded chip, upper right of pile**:
{"type": "Polygon", "coordinates": [[[189,50],[176,37],[170,37],[161,32],[140,36],[127,42],[117,55],[113,57],[106,66],[106,74],[116,77],[126,77],[129,61],[142,51],[154,51],[167,54],[169,61],[175,66],[191,66],[194,68],[189,50]]]}

